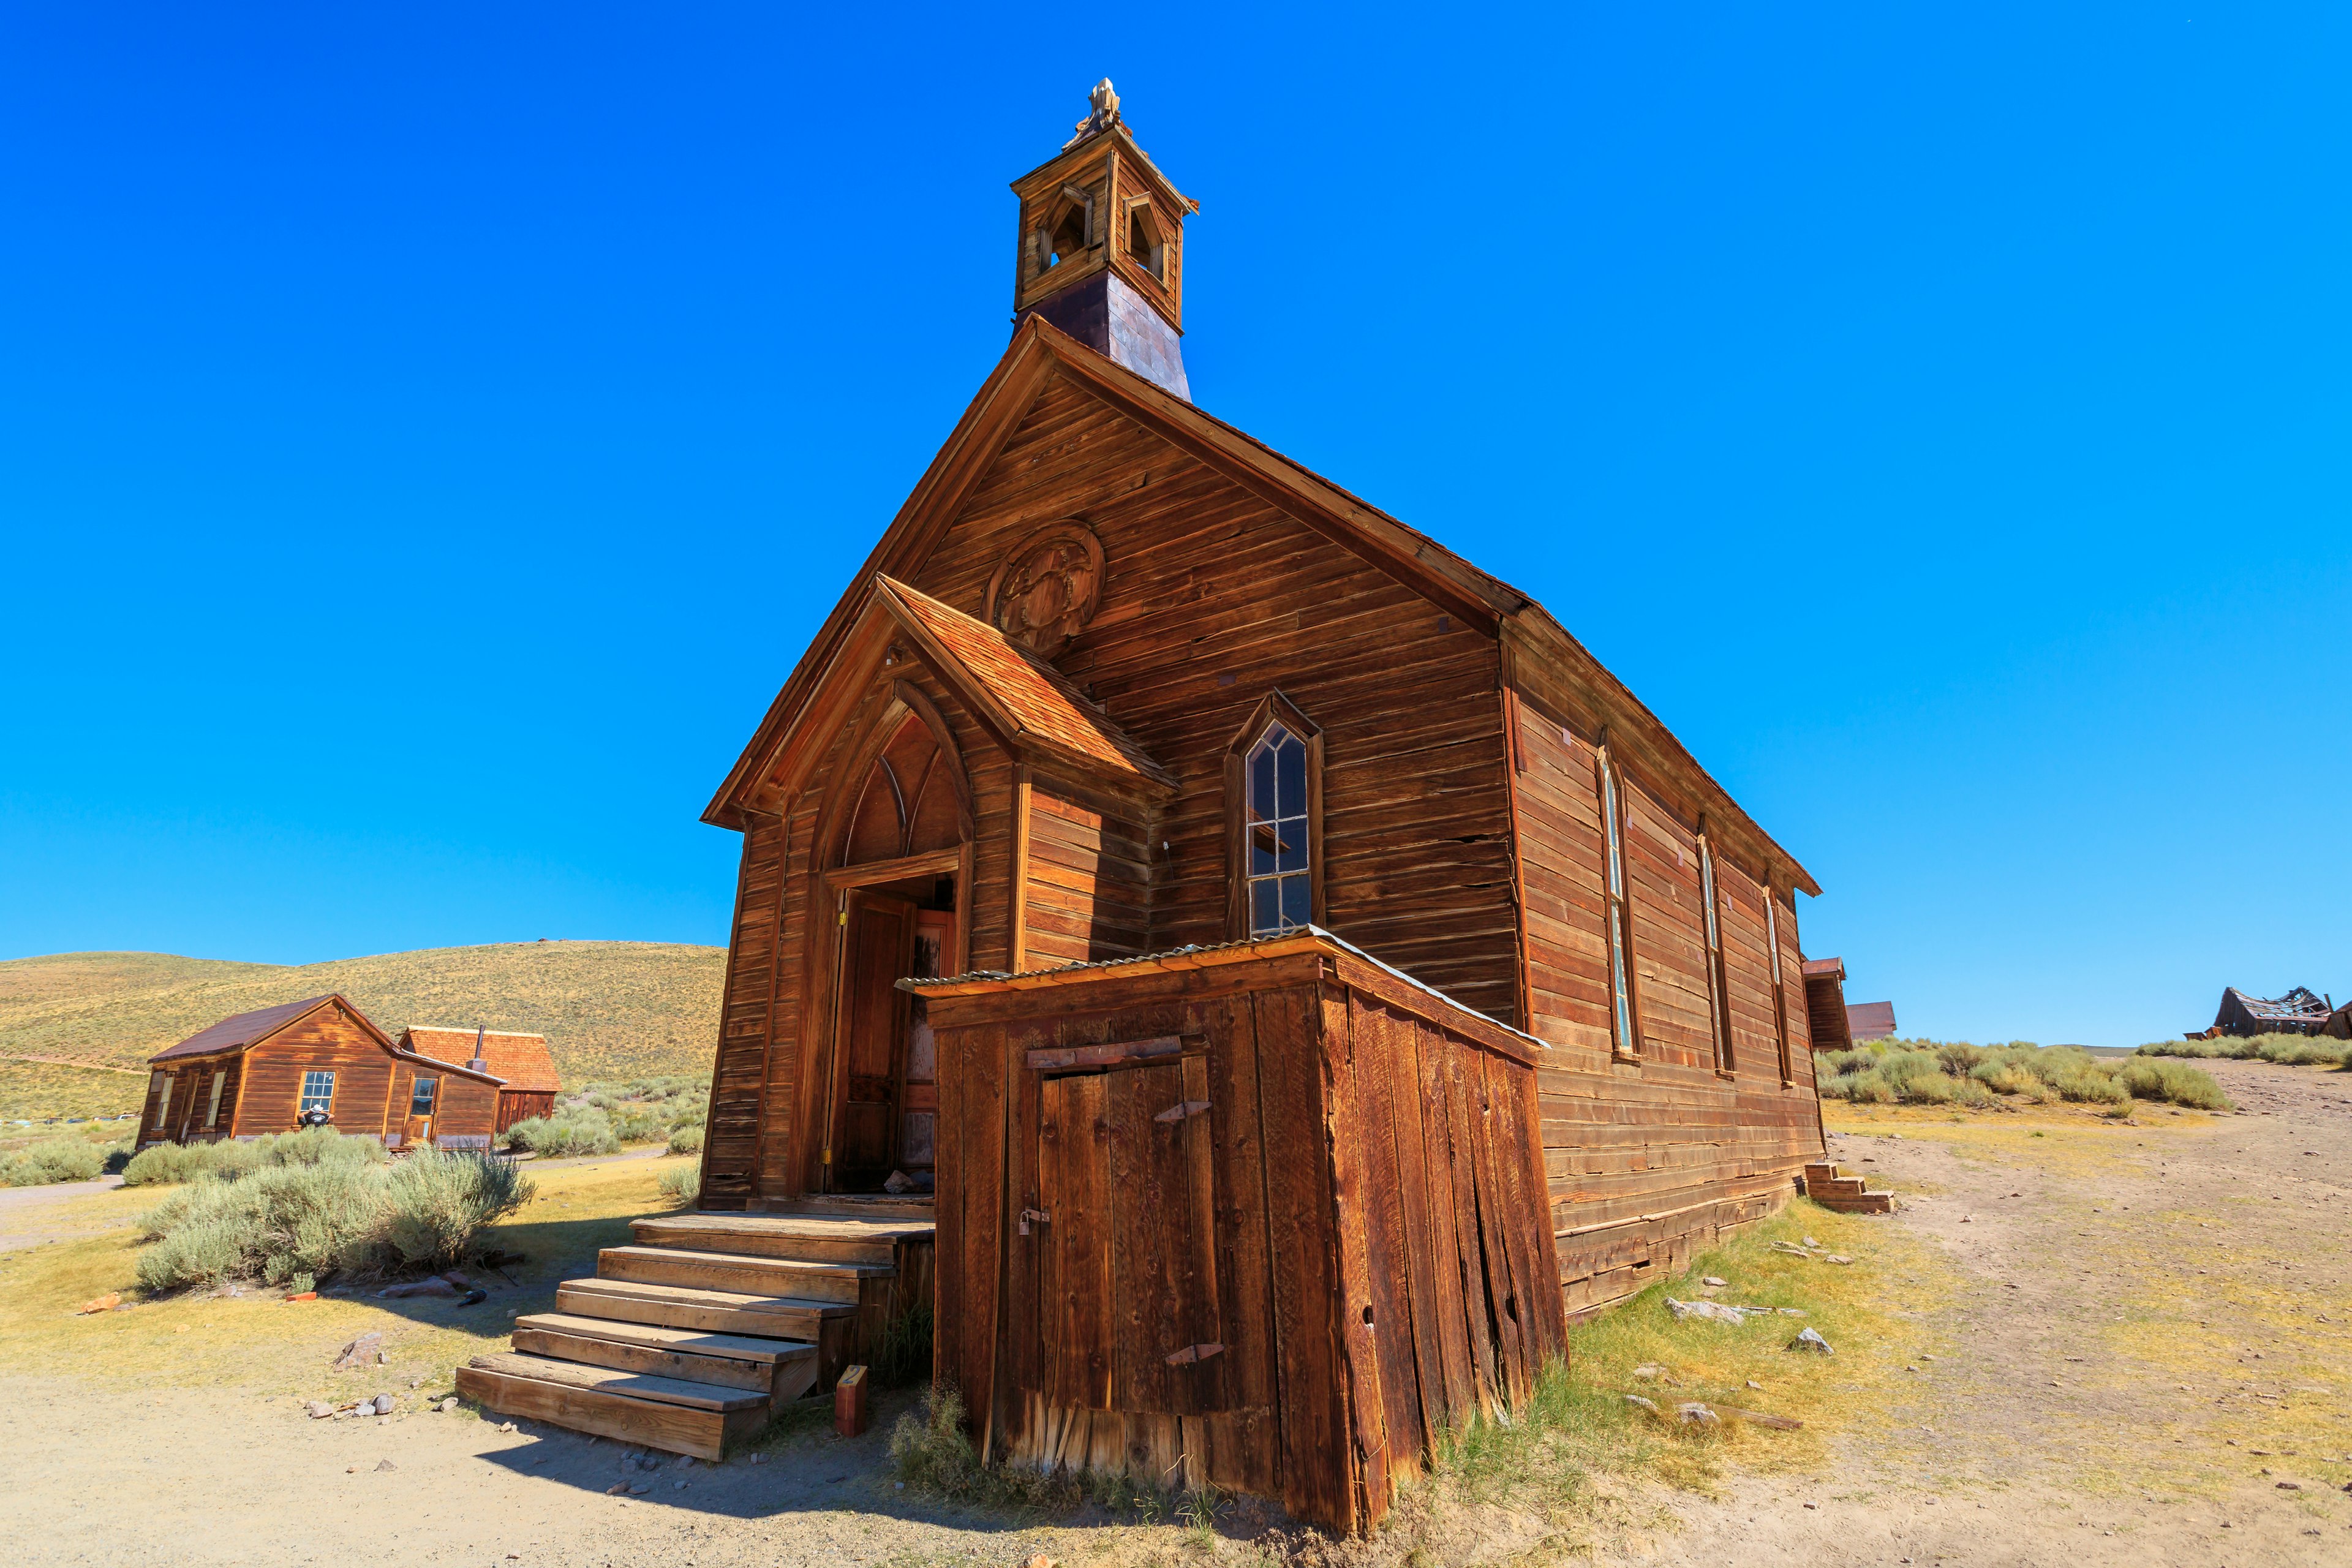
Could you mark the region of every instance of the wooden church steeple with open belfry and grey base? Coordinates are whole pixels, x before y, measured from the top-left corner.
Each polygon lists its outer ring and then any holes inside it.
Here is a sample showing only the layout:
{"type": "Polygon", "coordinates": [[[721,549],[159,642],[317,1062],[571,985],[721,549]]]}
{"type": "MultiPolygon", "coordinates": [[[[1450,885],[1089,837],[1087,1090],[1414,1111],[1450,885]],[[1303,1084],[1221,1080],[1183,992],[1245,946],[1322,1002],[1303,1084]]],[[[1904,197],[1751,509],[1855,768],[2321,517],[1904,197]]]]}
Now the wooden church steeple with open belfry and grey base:
{"type": "Polygon", "coordinates": [[[1192,397],[1183,374],[1183,221],[1200,212],[1136,146],[1103,78],[1091,113],[1014,181],[1014,324],[1042,315],[1089,348],[1192,397]]]}

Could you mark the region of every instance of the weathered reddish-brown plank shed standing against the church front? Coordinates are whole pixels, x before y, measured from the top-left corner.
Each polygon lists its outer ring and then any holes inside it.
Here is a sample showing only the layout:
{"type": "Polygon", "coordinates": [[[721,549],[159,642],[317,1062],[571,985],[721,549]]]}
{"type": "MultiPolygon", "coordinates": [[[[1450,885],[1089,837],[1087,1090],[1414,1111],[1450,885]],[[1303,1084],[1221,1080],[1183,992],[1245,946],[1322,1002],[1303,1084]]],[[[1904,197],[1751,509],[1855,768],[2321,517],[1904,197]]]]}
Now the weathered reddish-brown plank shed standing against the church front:
{"type": "Polygon", "coordinates": [[[1183,1472],[1352,1530],[1566,1354],[1531,1046],[1296,947],[927,992],[938,1375],[990,1453],[1183,1472]],[[1183,1053],[1028,1065],[1160,1037],[1183,1053]]]}

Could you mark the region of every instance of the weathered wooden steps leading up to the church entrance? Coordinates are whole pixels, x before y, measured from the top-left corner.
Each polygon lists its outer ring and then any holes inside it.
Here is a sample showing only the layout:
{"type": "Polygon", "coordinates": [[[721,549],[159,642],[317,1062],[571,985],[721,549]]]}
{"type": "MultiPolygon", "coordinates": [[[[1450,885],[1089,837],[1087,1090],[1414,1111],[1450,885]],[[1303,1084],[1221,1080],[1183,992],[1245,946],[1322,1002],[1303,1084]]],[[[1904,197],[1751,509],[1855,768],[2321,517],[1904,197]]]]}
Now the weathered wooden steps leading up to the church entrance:
{"type": "Polygon", "coordinates": [[[800,1199],[769,1213],[633,1220],[630,1246],[515,1319],[456,1392],[543,1420],[717,1460],[793,1399],[870,1361],[931,1300],[929,1199],[800,1199]]]}

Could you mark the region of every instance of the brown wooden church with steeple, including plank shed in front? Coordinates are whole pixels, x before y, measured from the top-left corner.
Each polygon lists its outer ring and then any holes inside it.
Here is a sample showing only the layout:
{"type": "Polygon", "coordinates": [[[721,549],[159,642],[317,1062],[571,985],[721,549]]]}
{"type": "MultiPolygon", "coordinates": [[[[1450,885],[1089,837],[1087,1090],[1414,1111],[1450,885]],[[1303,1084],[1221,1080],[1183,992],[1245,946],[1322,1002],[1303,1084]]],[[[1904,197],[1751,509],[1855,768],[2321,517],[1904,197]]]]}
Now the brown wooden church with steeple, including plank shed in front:
{"type": "Polygon", "coordinates": [[[1820,1157],[1818,889],[1541,604],[1192,404],[1195,202],[1091,106],[1014,181],[1011,346],[706,813],[687,1220],[866,1225],[901,1286],[929,1232],[993,1460],[1362,1528],[1820,1157]]]}

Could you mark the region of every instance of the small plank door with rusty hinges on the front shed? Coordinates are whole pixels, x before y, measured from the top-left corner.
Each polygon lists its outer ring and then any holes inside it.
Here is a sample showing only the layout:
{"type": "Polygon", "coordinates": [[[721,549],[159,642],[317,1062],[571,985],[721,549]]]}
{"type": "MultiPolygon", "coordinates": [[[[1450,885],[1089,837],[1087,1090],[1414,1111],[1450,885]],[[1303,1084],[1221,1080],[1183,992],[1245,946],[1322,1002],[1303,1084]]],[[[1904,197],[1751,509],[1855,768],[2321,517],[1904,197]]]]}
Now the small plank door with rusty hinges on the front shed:
{"type": "Polygon", "coordinates": [[[1040,1380],[1082,1410],[1228,1408],[1204,1058],[1047,1079],[1040,1380]]]}

